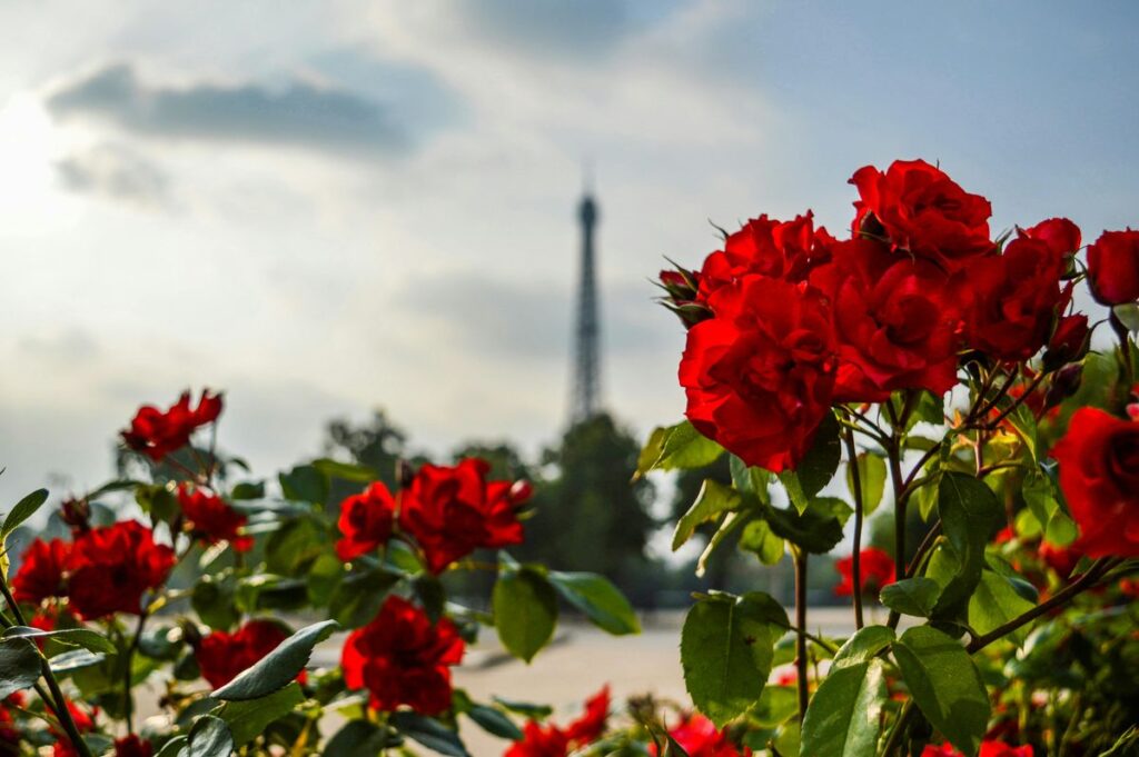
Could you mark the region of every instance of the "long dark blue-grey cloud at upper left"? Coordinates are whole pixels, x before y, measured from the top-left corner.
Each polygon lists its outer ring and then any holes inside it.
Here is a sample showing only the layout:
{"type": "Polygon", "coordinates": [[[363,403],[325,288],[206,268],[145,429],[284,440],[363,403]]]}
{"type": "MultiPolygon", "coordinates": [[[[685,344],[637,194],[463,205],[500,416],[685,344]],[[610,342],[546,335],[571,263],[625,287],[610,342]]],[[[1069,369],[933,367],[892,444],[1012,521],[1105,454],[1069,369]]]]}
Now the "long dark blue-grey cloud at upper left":
{"type": "Polygon", "coordinates": [[[80,76],[48,98],[60,118],[99,118],[125,131],[166,138],[295,145],[334,153],[392,154],[410,139],[383,104],[354,91],[292,80],[255,83],[148,84],[133,65],[80,76]]]}

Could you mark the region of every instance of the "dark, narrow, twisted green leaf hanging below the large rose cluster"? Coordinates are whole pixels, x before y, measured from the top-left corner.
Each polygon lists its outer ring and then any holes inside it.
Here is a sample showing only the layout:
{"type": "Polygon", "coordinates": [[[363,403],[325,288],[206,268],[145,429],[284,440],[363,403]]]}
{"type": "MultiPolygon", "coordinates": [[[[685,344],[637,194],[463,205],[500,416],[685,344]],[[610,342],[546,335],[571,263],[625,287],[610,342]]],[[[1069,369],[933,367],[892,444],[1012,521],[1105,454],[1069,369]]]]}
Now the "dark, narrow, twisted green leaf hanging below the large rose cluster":
{"type": "Polygon", "coordinates": [[[985,545],[1002,512],[997,495],[981,479],[945,472],[937,487],[937,515],[948,545],[957,558],[958,571],[942,587],[933,617],[953,619],[964,615],[981,581],[985,545]]]}

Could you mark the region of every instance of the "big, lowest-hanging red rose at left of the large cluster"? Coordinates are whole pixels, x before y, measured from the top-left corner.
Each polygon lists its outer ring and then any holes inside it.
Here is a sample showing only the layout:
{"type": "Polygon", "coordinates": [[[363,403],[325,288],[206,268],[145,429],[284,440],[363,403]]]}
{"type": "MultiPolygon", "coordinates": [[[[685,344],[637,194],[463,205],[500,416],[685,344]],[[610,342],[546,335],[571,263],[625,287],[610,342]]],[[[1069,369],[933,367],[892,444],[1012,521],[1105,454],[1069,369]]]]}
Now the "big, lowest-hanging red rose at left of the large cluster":
{"type": "Polygon", "coordinates": [[[708,302],[716,316],[688,331],[680,361],[688,420],[749,466],[795,468],[834,398],[825,298],[805,283],[748,275],[708,302]]]}

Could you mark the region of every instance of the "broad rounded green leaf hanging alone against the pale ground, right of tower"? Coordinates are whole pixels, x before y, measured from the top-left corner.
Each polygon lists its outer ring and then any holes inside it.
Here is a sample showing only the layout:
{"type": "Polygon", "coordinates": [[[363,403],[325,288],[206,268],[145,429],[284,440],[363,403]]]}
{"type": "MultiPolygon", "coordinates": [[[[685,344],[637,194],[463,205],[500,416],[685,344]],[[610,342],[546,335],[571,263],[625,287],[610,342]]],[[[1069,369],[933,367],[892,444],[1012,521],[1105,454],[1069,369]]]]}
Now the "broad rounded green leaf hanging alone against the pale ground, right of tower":
{"type": "Polygon", "coordinates": [[[716,727],[760,699],[787,626],[782,607],[760,592],[704,596],[688,611],[680,634],[685,685],[716,727]]]}

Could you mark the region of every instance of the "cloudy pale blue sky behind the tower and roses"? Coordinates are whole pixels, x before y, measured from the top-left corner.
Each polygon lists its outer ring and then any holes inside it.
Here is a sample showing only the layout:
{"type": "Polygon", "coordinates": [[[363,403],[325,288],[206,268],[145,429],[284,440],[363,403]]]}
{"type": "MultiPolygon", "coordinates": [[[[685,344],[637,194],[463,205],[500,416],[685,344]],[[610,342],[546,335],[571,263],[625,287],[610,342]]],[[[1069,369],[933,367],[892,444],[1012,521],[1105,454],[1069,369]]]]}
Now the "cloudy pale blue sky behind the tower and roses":
{"type": "Polygon", "coordinates": [[[940,162],[993,225],[1139,225],[1139,6],[0,0],[0,507],[224,389],[262,475],[383,408],[439,454],[565,426],[584,174],[603,395],[675,422],[653,303],[711,222],[940,162]]]}

